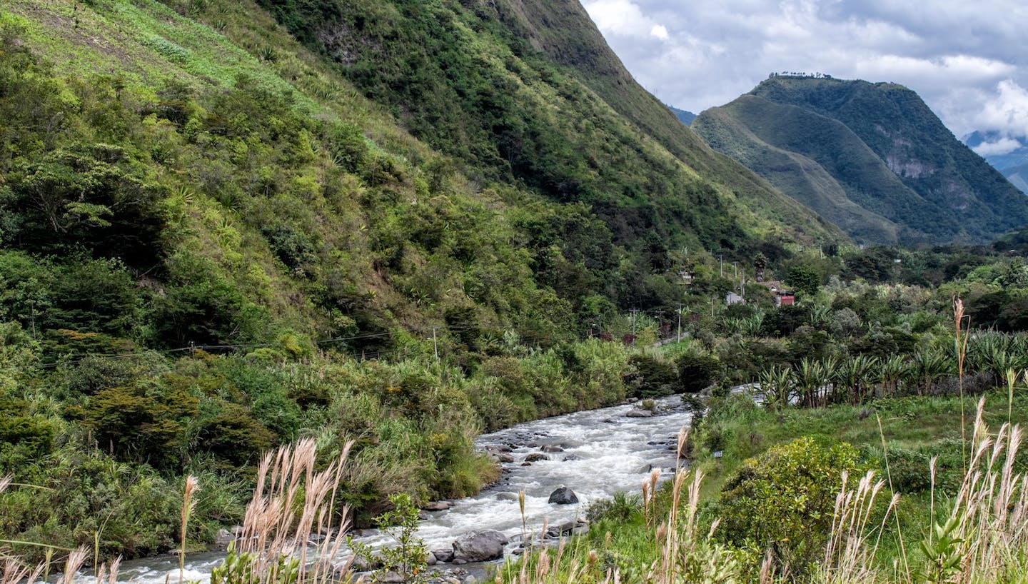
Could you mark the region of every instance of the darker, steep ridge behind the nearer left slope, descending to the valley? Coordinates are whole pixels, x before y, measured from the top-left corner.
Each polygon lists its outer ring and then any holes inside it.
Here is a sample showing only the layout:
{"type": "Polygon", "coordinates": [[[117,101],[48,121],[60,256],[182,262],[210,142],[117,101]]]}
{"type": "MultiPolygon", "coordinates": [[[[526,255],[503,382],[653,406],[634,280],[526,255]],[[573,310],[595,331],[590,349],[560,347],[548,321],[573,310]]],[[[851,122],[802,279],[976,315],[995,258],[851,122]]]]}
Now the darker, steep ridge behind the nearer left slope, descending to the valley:
{"type": "Polygon", "coordinates": [[[683,127],[577,2],[263,4],[414,135],[483,178],[590,205],[619,243],[838,235],[683,127]]]}

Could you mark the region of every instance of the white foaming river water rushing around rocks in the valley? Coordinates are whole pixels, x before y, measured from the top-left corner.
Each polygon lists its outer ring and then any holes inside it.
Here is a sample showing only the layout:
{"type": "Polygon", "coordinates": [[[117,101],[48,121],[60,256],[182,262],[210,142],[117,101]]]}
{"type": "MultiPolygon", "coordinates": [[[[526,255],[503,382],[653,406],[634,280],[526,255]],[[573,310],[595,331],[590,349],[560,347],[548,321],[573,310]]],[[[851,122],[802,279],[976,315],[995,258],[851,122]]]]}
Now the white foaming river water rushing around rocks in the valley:
{"type": "MultiPolygon", "coordinates": [[[[692,413],[677,396],[657,400],[661,412],[653,417],[628,417],[632,405],[618,405],[580,411],[520,424],[507,430],[479,436],[481,449],[508,446],[513,463],[503,464],[503,477],[474,497],[460,499],[445,511],[428,512],[418,537],[428,549],[449,548],[457,537],[480,530],[498,530],[512,541],[521,537],[521,512],[517,494],[525,494],[525,519],[529,533],[538,534],[544,523],[556,525],[584,517],[589,503],[622,490],[637,494],[650,469],[669,472],[675,468],[678,431],[688,426],[692,413]],[[549,460],[521,466],[525,457],[544,446],[563,451],[546,452],[549,460]],[[572,457],[574,455],[574,457],[572,457]],[[565,458],[572,460],[564,460],[565,458]],[[577,460],[576,460],[577,459],[577,460]],[[555,488],[567,486],[578,496],[576,505],[555,505],[547,499],[555,488]]],[[[381,535],[365,532],[363,541],[371,545],[388,543],[381,535]]],[[[186,556],[186,580],[207,582],[211,570],[221,563],[223,552],[186,556]]],[[[445,568],[440,564],[438,568],[445,568]]],[[[120,580],[140,584],[164,584],[179,578],[176,556],[148,557],[121,564],[120,580]]],[[[85,579],[83,579],[83,582],[85,579]]]]}

